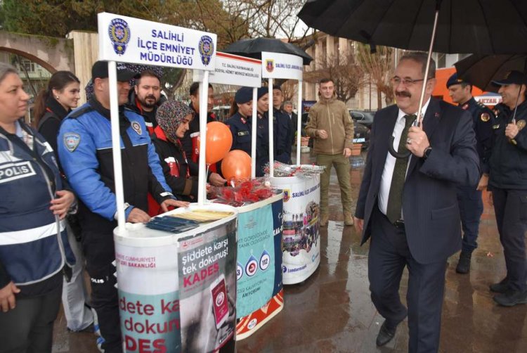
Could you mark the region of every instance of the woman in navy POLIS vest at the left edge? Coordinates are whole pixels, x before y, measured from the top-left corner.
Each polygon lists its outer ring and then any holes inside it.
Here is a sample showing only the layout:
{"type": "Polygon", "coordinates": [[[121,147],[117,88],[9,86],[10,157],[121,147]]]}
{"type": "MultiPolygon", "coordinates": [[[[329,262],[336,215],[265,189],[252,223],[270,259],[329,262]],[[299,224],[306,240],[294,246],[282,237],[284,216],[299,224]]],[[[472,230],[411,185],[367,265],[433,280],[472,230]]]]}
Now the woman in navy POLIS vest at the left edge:
{"type": "Polygon", "coordinates": [[[0,63],[0,352],[51,352],[63,272],[75,263],[63,220],[74,195],[50,143],[20,119],[29,98],[0,63]]]}

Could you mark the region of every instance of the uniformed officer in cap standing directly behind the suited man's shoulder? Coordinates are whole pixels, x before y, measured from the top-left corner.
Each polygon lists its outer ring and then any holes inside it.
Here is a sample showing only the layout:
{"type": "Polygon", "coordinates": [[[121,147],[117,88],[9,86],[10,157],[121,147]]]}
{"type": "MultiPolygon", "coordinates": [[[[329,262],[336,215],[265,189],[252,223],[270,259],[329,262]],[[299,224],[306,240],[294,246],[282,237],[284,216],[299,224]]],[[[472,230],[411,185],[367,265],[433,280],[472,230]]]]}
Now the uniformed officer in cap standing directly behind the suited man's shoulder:
{"type": "Polygon", "coordinates": [[[494,114],[483,103],[476,102],[471,94],[472,86],[457,77],[457,73],[450,76],[446,83],[448,94],[454,103],[468,110],[474,121],[476,132],[476,149],[483,175],[476,186],[457,186],[457,203],[460,207],[461,224],[463,228],[463,241],[459,262],[455,271],[458,274],[467,274],[470,271],[472,252],[477,248],[479,219],[483,214],[483,200],[481,191],[488,184],[488,159],[492,146],[492,126],[494,114]]]}

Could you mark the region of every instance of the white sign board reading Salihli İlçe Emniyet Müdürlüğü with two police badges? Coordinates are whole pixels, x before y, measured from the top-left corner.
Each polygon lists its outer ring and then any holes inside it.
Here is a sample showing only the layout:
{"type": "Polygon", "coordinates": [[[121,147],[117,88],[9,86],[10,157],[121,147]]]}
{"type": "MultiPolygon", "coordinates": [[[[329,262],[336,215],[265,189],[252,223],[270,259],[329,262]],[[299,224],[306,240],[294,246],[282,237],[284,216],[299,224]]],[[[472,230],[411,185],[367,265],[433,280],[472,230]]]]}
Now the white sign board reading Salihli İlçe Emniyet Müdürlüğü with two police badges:
{"type": "Polygon", "coordinates": [[[98,14],[99,59],[144,65],[214,70],[217,35],[139,20],[98,14]]]}

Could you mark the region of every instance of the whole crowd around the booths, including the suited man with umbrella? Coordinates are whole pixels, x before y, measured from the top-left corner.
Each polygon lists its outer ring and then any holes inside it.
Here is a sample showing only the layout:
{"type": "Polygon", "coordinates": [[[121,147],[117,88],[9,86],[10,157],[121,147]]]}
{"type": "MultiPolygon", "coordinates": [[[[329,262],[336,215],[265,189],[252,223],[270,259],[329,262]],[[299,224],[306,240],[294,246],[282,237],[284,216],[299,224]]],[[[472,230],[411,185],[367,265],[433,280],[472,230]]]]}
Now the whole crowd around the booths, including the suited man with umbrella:
{"type": "MultiPolygon", "coordinates": [[[[419,107],[426,64],[424,54],[407,53],[396,67],[391,79],[396,104],[375,115],[354,215],[353,120],[336,99],[332,79],[320,81],[320,99],[306,125],[316,163],[325,166],[320,226],[330,217],[334,167],[344,223],[363,233],[361,243],[370,240],[371,298],[386,319],[377,345],[386,345],[408,316],[410,352],[438,350],[447,259],[461,249],[456,271],[470,271],[486,188],[492,191],[507,265],[507,276],[490,290],[502,306],[527,303],[527,78],[511,72],[495,81],[503,101],[492,111],[476,103],[469,82],[453,76],[447,86],[458,108],[431,97],[432,61],[419,107]],[[419,115],[422,121],[415,124],[419,115]],[[397,153],[391,153],[390,137],[397,153]],[[405,267],[408,307],[398,294],[405,267]]],[[[22,80],[11,65],[0,64],[0,352],[51,352],[61,298],[68,330],[91,330],[104,352],[122,352],[113,276],[118,215],[108,63],[96,62],[91,76],[93,94],[77,108],[81,82],[72,72],[54,73],[35,99],[30,127],[20,119],[29,101],[22,80]]],[[[209,85],[207,107],[200,107],[197,82],[190,86],[190,105],[167,101],[161,82],[155,71],[133,72],[117,64],[126,222],[148,222],[197,199],[198,116],[206,109],[207,122],[216,121],[214,88],[209,85]]],[[[279,86],[272,101],[266,87],[257,90],[256,101],[252,89],[240,88],[225,122],[231,150],[249,155],[256,124],[256,177],[270,162],[270,104],[275,160],[290,164],[298,117],[279,86]]],[[[210,166],[207,182],[226,185],[221,162],[210,166]]]]}

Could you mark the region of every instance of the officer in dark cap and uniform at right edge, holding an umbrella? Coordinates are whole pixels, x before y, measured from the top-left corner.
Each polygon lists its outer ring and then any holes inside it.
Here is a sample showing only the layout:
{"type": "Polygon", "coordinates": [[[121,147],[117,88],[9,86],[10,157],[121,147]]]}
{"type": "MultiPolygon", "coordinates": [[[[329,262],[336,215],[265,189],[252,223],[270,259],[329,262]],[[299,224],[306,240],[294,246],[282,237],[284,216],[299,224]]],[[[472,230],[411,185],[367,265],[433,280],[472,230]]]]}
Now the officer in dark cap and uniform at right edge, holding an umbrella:
{"type": "Polygon", "coordinates": [[[488,186],[492,191],[507,276],[490,285],[490,290],[498,293],[494,296],[495,302],[512,307],[527,303],[527,78],[519,71],[512,71],[493,84],[500,86],[502,103],[495,107],[497,117],[493,122],[488,186]]]}

